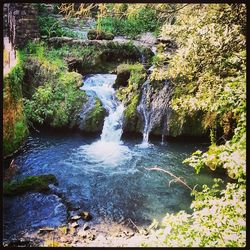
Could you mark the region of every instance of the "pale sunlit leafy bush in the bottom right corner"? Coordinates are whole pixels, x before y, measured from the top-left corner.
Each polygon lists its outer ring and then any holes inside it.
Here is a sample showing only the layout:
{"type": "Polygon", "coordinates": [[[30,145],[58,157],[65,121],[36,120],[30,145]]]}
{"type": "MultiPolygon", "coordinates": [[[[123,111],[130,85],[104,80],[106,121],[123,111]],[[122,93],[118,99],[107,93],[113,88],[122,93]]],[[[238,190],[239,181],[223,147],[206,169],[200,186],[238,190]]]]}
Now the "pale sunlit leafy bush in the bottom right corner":
{"type": "Polygon", "coordinates": [[[150,242],[143,246],[244,247],[246,244],[246,192],[244,183],[193,191],[192,214],[167,214],[150,242]],[[154,240],[155,239],[155,240],[154,240]]]}

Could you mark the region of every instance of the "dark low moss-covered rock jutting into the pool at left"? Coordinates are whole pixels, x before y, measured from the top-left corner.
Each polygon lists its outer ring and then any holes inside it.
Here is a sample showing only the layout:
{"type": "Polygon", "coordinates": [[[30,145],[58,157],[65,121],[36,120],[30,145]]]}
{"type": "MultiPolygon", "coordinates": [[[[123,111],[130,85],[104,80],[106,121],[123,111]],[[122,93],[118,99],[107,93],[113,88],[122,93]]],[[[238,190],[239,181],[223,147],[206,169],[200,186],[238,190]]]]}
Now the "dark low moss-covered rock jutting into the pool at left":
{"type": "Polygon", "coordinates": [[[5,182],[3,185],[3,194],[13,196],[26,192],[46,192],[49,190],[49,184],[58,184],[56,177],[52,174],[29,176],[19,182],[5,182]]]}

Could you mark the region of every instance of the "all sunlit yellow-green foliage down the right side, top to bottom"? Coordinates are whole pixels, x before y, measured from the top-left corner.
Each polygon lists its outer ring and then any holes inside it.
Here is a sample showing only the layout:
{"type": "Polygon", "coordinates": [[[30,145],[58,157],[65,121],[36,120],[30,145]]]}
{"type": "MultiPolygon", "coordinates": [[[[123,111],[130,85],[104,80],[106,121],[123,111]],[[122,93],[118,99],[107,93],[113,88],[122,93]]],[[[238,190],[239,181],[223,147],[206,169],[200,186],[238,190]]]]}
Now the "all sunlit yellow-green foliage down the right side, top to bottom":
{"type": "MultiPolygon", "coordinates": [[[[246,8],[244,5],[188,5],[165,24],[161,36],[178,49],[168,70],[156,67],[152,78],[175,84],[172,108],[185,114],[200,110],[211,129],[207,152],[184,162],[198,173],[224,168],[235,183],[218,182],[193,191],[192,214],[167,214],[152,246],[245,246],[246,241],[246,8]]],[[[163,57],[163,60],[166,58],[163,57]]]]}

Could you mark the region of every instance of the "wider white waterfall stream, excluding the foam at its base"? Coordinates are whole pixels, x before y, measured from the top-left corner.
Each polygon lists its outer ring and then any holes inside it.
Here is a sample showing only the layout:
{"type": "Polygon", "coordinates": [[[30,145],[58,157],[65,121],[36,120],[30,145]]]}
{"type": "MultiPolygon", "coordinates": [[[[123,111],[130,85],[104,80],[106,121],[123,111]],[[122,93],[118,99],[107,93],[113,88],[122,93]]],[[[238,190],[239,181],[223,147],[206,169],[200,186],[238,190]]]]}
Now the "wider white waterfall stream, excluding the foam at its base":
{"type": "Polygon", "coordinates": [[[93,93],[101,100],[103,107],[108,111],[104,120],[101,141],[120,142],[122,135],[122,119],[124,106],[118,103],[115,90],[112,87],[116,79],[114,74],[96,74],[86,76],[81,87],[87,93],[93,93]]]}

